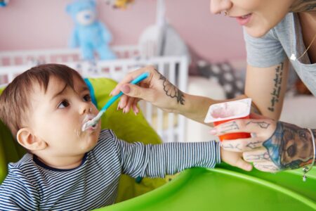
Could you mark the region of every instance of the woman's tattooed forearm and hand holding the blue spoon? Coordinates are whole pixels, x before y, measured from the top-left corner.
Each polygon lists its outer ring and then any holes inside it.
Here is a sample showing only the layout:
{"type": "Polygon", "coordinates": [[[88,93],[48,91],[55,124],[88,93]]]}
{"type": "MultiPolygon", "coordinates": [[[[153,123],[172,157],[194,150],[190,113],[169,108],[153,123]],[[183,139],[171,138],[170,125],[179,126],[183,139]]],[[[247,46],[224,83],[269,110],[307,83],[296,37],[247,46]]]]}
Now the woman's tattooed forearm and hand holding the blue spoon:
{"type": "MultiPolygon", "coordinates": [[[[212,87],[209,87],[209,89],[212,89],[212,87]]],[[[117,84],[117,87],[113,89],[112,95],[118,94],[119,91],[123,91],[125,94],[119,101],[119,108],[123,109],[124,113],[129,112],[130,109],[133,109],[134,113],[138,113],[136,104],[140,99],[143,99],[162,110],[171,113],[180,113],[185,117],[203,124],[209,106],[213,103],[223,102],[203,96],[186,94],[180,91],[180,89],[171,84],[164,75],[160,74],[152,66],[140,68],[126,75],[126,77],[117,84]],[[137,86],[127,84],[143,72],[150,72],[150,77],[137,86]]],[[[242,95],[228,101],[242,98],[246,98],[246,96],[242,95]]],[[[259,113],[256,106],[253,105],[252,108],[256,110],[256,113],[259,113]]]]}

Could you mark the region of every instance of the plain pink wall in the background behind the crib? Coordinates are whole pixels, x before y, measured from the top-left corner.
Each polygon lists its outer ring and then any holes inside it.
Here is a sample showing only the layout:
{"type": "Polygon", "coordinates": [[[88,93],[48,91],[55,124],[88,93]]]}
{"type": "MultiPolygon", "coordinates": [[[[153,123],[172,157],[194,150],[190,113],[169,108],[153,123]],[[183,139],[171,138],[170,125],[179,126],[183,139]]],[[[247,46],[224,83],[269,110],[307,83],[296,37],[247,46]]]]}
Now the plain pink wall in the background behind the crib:
{"type": "MultiPolygon", "coordinates": [[[[0,51],[65,48],[72,20],[65,13],[71,0],[11,0],[0,8],[0,51]]],[[[165,0],[166,17],[187,44],[209,60],[245,58],[242,27],[209,12],[209,0],[165,0]],[[197,4],[199,2],[199,4],[197,4]]],[[[154,23],[156,0],[135,0],[126,10],[98,0],[99,17],[113,34],[113,44],[137,44],[154,23]]]]}

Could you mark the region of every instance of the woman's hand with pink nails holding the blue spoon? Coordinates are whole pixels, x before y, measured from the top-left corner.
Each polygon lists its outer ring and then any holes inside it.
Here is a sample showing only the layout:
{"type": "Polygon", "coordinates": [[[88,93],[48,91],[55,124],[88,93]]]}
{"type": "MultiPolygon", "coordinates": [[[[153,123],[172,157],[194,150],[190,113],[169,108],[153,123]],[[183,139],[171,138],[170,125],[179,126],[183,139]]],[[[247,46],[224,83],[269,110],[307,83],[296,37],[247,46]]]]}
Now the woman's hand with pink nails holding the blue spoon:
{"type": "Polygon", "coordinates": [[[178,106],[184,105],[185,101],[183,92],[152,66],[130,72],[112,90],[111,95],[117,95],[119,91],[122,91],[124,95],[121,96],[118,109],[123,109],[124,113],[128,113],[132,108],[137,114],[139,112],[137,103],[140,99],[167,112],[175,112],[178,106]],[[129,84],[143,72],[149,72],[150,76],[138,85],[129,84]]]}

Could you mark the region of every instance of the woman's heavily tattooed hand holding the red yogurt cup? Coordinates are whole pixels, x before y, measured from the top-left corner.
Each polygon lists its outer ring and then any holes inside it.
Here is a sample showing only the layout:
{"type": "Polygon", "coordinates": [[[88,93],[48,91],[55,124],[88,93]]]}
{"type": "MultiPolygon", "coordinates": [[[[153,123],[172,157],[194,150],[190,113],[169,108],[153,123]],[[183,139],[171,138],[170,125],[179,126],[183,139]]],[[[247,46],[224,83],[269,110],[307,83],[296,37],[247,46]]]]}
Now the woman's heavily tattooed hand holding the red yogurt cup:
{"type": "Polygon", "coordinates": [[[232,120],[211,130],[213,135],[234,132],[249,132],[253,136],[223,141],[221,147],[243,152],[244,160],[254,162],[254,167],[263,172],[297,169],[312,162],[314,152],[308,129],[251,114],[251,119],[232,120]]]}

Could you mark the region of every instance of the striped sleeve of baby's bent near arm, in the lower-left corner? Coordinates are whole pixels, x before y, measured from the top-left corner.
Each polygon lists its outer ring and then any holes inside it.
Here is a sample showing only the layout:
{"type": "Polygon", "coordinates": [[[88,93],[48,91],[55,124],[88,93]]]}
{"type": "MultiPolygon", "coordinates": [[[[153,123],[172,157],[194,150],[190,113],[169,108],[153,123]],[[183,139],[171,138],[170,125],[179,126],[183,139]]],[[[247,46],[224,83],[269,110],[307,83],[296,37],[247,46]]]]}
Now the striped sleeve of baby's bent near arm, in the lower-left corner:
{"type": "Polygon", "coordinates": [[[0,210],[39,210],[36,188],[20,172],[11,173],[0,186],[0,210]]]}

